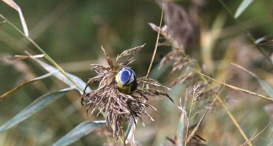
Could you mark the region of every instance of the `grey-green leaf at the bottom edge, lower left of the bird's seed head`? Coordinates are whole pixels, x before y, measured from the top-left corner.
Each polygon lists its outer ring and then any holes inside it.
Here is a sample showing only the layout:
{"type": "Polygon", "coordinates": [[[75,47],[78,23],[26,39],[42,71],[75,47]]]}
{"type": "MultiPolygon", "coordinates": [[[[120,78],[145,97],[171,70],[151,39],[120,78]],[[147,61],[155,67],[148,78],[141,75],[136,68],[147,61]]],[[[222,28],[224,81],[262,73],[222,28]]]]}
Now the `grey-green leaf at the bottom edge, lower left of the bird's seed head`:
{"type": "Polygon", "coordinates": [[[105,124],[106,121],[84,121],[71,130],[69,133],[64,135],[61,139],[55,142],[52,146],[65,146],[69,145],[83,136],[89,134],[95,129],[99,128],[101,125],[105,124]]]}

